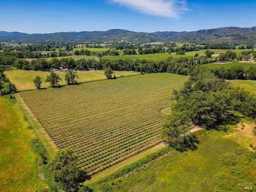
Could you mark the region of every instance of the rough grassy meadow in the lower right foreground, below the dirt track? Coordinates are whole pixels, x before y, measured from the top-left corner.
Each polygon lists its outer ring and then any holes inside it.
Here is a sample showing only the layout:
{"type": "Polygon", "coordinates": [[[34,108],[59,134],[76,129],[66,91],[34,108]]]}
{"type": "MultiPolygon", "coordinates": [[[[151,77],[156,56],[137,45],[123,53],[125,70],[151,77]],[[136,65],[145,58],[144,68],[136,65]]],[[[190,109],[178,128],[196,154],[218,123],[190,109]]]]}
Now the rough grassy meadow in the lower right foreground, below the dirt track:
{"type": "MultiPolygon", "coordinates": [[[[249,127],[252,134],[253,126],[249,127]]],[[[107,184],[113,192],[242,192],[245,190],[239,184],[250,183],[252,190],[247,191],[255,191],[255,155],[236,142],[237,136],[243,134],[240,131],[243,129],[234,126],[228,132],[198,131],[197,150],[183,153],[171,150],[107,184]]],[[[94,182],[88,186],[99,192],[100,185],[94,182]]]]}

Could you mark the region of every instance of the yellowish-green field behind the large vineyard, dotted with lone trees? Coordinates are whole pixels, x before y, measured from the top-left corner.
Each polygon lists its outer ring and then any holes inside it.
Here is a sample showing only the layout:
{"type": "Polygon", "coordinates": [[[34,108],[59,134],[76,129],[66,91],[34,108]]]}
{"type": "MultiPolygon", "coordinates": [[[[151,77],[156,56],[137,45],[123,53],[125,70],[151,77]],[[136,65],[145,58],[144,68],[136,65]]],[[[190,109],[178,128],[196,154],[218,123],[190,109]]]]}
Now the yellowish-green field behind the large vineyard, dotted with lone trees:
{"type": "MultiPolygon", "coordinates": [[[[65,72],[56,72],[62,78],[60,81],[60,85],[66,85],[65,81],[65,72]]],[[[49,72],[43,71],[25,71],[25,70],[10,70],[5,71],[4,74],[9,78],[10,82],[15,84],[17,90],[24,91],[24,90],[33,90],[36,89],[34,86],[33,80],[36,76],[40,76],[42,80],[41,88],[47,88],[50,86],[49,82],[45,82],[46,77],[50,74],[49,72]]],[[[138,75],[140,72],[133,72],[133,71],[114,71],[116,77],[120,76],[131,76],[131,75],[138,75]]],[[[88,72],[78,72],[78,78],[76,78],[77,82],[89,82],[95,80],[103,80],[106,79],[103,70],[98,71],[88,71],[88,72]]]]}

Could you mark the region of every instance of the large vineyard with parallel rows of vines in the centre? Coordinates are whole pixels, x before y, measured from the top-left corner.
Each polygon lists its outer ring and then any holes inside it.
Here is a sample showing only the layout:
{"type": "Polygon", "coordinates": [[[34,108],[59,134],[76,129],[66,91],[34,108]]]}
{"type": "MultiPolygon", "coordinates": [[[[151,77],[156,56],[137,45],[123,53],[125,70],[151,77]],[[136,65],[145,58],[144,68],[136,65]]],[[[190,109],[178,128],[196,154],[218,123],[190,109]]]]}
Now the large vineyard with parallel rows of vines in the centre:
{"type": "Polygon", "coordinates": [[[59,149],[89,175],[162,141],[164,113],[187,76],[145,74],[19,93],[59,149]]]}

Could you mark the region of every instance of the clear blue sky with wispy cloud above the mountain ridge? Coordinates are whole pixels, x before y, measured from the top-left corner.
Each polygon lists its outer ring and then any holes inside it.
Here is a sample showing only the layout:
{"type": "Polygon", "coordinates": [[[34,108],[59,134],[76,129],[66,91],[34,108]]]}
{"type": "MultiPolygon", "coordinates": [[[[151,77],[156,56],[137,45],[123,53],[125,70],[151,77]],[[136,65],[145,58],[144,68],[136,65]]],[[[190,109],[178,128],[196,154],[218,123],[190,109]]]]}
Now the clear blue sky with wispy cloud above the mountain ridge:
{"type": "Polygon", "coordinates": [[[0,30],[195,31],[256,26],[255,0],[0,0],[0,30]]]}

